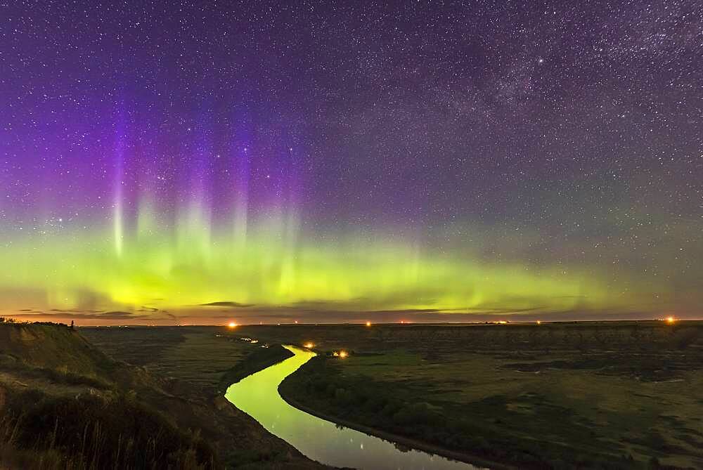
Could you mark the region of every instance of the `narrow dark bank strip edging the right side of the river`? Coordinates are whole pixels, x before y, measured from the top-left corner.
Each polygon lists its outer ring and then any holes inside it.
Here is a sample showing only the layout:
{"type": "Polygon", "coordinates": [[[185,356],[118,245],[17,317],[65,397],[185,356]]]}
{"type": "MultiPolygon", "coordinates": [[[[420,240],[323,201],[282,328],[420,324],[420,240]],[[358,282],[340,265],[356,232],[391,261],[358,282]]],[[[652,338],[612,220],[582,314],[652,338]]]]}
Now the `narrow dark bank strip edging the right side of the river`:
{"type": "MultiPolygon", "coordinates": [[[[285,380],[283,382],[285,383],[285,380]]],[[[363,424],[351,422],[347,419],[335,417],[331,414],[319,412],[318,410],[314,410],[313,408],[300,403],[298,400],[295,400],[295,398],[292,398],[290,394],[285,392],[285,387],[283,387],[283,384],[280,384],[280,386],[278,387],[278,394],[280,395],[280,398],[283,398],[283,400],[285,400],[285,403],[288,403],[288,405],[295,407],[298,410],[304,411],[308,414],[312,414],[314,417],[325,419],[325,421],[329,421],[334,424],[347,427],[349,429],[354,429],[356,431],[366,433],[370,436],[387,440],[390,443],[403,445],[405,447],[415,450],[422,450],[423,452],[439,455],[441,457],[446,457],[452,460],[458,460],[459,462],[465,462],[474,466],[486,467],[492,470],[515,470],[518,468],[516,466],[510,466],[508,464],[502,464],[500,462],[482,459],[480,457],[470,455],[465,452],[455,452],[453,450],[441,448],[437,445],[424,443],[420,440],[399,436],[398,434],[389,433],[387,431],[383,431],[382,429],[371,428],[369,426],[364,426],[363,424]]]]}

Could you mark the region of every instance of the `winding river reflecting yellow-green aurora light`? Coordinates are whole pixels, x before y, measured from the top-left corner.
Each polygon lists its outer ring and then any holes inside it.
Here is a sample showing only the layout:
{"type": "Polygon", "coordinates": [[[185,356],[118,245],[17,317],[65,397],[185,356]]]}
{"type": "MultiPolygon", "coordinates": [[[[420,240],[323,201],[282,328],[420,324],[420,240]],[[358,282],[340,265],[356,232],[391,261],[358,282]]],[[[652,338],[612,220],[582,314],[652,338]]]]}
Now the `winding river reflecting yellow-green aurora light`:
{"type": "Polygon", "coordinates": [[[419,450],[400,450],[387,440],[337,426],[288,405],[280,398],[278,385],[315,353],[294,346],[285,348],[295,355],[233,384],[225,397],[310,459],[355,469],[477,469],[419,450]]]}

